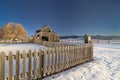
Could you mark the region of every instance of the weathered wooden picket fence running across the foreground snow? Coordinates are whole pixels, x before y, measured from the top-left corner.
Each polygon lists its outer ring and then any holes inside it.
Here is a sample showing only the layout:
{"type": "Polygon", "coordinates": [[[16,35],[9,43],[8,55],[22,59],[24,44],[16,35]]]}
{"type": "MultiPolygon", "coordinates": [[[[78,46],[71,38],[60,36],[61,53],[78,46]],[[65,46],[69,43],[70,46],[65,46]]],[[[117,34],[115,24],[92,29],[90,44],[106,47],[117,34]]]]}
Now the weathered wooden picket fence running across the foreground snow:
{"type": "Polygon", "coordinates": [[[8,55],[0,52],[0,80],[41,79],[90,61],[92,57],[93,44],[59,46],[34,52],[29,50],[28,53],[17,51],[15,55],[13,52],[9,52],[8,55]],[[8,62],[8,76],[5,70],[6,62],[8,62]]]}

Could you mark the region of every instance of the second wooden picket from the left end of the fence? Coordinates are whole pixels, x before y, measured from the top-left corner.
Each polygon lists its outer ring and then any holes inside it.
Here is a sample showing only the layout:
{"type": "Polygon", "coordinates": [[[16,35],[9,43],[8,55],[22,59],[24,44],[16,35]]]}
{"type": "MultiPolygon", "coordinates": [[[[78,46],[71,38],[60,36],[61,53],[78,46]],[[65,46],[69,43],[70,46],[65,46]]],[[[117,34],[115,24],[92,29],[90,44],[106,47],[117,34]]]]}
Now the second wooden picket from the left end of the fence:
{"type": "Polygon", "coordinates": [[[13,76],[13,54],[11,51],[8,54],[8,63],[9,63],[8,80],[13,80],[13,78],[12,78],[12,76],[13,76]]]}

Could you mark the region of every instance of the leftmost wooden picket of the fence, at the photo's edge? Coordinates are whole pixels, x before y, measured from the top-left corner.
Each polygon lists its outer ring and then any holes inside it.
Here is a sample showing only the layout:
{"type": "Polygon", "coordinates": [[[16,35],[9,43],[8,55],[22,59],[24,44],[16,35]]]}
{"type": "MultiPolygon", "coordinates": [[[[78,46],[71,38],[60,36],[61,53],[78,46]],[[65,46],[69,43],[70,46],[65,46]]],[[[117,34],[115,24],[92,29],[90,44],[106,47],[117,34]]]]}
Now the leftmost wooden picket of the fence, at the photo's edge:
{"type": "Polygon", "coordinates": [[[5,79],[5,53],[0,53],[0,80],[5,79]]]}

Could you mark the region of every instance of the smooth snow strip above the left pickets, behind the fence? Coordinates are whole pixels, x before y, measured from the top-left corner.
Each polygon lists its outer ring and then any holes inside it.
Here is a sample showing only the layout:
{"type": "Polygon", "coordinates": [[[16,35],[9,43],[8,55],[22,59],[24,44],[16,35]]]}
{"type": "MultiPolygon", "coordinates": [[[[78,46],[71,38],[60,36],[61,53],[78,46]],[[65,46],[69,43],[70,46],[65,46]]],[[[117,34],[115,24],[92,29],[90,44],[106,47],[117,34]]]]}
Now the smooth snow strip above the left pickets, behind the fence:
{"type": "Polygon", "coordinates": [[[21,53],[23,50],[25,51],[29,51],[29,50],[32,50],[32,52],[36,49],[36,50],[39,50],[39,49],[47,49],[47,47],[45,46],[40,46],[40,45],[37,45],[37,44],[0,44],[0,52],[5,52],[6,55],[8,55],[9,51],[12,51],[13,54],[16,53],[17,50],[19,50],[21,53]]]}

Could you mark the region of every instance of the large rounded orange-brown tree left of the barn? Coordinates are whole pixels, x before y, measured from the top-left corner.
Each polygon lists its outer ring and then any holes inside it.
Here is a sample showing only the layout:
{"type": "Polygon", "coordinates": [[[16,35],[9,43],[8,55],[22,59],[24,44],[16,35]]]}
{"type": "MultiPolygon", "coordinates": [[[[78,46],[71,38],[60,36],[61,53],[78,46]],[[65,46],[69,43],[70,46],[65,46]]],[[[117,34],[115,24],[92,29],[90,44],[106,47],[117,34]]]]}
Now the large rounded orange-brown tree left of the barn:
{"type": "Polygon", "coordinates": [[[27,37],[27,31],[21,24],[8,23],[2,28],[3,39],[23,40],[27,37]]]}

